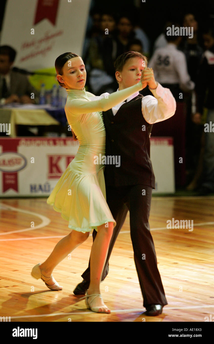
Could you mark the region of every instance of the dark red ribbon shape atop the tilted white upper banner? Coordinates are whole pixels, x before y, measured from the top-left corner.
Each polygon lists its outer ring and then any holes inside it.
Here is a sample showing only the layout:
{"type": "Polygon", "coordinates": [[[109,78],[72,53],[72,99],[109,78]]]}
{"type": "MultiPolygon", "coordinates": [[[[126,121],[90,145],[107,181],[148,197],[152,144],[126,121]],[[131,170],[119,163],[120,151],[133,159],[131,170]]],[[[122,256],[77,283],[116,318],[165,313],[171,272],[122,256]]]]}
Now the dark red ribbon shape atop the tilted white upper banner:
{"type": "Polygon", "coordinates": [[[55,25],[58,4],[59,0],[38,0],[34,24],[46,18],[55,25]]]}

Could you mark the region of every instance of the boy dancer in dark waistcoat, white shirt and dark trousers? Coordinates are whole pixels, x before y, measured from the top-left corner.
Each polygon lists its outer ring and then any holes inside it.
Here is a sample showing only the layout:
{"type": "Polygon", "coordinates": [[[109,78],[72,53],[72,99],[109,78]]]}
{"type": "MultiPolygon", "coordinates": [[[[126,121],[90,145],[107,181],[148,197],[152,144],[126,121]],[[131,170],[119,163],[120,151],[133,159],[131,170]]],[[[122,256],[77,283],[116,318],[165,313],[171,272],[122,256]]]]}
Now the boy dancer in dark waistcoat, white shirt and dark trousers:
{"type": "MultiPolygon", "coordinates": [[[[112,109],[103,112],[106,130],[106,156],[120,157],[120,167],[106,164],[104,168],[106,202],[116,221],[103,269],[103,280],[109,271],[109,258],[117,235],[130,214],[130,233],[134,249],[134,261],[143,295],[145,315],[162,313],[168,304],[157,267],[153,238],[149,227],[149,212],[155,176],[150,160],[150,129],[153,123],[174,115],[176,101],[169,89],[155,81],[152,68],[145,68],[146,57],[129,51],[115,61],[115,76],[119,90],[135,85],[142,72],[153,96],[136,94],[112,109]]],[[[106,96],[106,94],[101,95],[106,96]]],[[[92,98],[93,99],[93,98],[92,98]]],[[[75,135],[75,134],[74,134],[75,135]]],[[[93,231],[93,240],[97,232],[93,231]]],[[[89,267],[82,274],[74,294],[85,294],[90,283],[89,267]]]]}

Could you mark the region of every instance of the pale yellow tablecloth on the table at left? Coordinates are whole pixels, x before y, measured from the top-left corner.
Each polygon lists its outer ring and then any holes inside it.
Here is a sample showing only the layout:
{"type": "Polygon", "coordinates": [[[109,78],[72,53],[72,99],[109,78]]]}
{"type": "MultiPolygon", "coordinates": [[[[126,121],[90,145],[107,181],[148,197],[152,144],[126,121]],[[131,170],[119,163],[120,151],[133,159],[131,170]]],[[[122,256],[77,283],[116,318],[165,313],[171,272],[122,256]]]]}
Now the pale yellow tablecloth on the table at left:
{"type": "Polygon", "coordinates": [[[0,123],[10,123],[10,137],[16,137],[15,125],[50,126],[60,123],[44,109],[0,109],[0,123]]]}

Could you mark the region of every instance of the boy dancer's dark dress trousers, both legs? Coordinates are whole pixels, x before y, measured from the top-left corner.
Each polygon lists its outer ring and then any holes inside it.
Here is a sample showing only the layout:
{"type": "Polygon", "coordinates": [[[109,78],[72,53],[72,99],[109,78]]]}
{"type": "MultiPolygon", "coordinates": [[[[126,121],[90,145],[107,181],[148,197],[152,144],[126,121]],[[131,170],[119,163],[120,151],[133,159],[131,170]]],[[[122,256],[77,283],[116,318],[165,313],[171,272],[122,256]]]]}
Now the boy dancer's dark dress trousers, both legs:
{"type": "MultiPolygon", "coordinates": [[[[149,227],[151,193],[152,187],[147,185],[106,186],[106,202],[116,221],[116,226],[113,230],[101,280],[109,272],[109,258],[129,210],[134,261],[144,307],[149,304],[168,304],[157,267],[155,246],[149,227]],[[145,190],[145,195],[142,195],[142,190],[145,190]]],[[[96,234],[97,231],[94,229],[93,240],[96,234]]],[[[82,274],[82,278],[90,281],[90,260],[88,268],[82,274]]]]}

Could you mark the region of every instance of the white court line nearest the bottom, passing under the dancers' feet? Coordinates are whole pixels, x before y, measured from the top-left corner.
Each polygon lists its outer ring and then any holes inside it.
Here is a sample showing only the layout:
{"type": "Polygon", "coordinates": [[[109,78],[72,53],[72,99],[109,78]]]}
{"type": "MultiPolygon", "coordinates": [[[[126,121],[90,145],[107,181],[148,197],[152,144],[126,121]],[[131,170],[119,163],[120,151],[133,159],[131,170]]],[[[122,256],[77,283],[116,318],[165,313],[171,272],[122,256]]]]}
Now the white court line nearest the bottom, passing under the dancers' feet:
{"type": "MultiPolygon", "coordinates": [[[[190,307],[166,307],[163,308],[163,312],[167,312],[167,310],[177,310],[177,309],[194,309],[194,308],[214,308],[214,305],[200,305],[200,306],[190,306],[190,307]]],[[[133,309],[114,309],[111,310],[111,313],[126,313],[126,312],[145,312],[145,309],[141,309],[141,308],[133,308],[133,309]]],[[[34,314],[34,315],[20,315],[20,316],[11,316],[11,319],[21,319],[21,318],[41,318],[43,316],[58,316],[58,315],[75,315],[75,314],[93,314],[95,312],[92,311],[87,311],[87,312],[69,312],[69,313],[52,313],[52,314],[34,314]]],[[[105,314],[105,313],[98,313],[98,314],[105,314]]],[[[143,314],[142,314],[143,315],[143,314]]],[[[9,316],[9,315],[8,315],[9,316]]]]}

